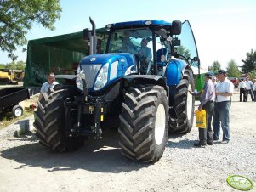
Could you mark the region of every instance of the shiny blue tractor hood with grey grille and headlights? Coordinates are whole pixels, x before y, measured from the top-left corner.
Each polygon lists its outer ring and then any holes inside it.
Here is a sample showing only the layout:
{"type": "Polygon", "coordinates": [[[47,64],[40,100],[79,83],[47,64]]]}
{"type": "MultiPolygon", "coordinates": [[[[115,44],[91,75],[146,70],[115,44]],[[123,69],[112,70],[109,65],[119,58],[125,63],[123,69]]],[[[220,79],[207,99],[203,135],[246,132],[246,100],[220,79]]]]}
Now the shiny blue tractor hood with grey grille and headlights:
{"type": "Polygon", "coordinates": [[[77,88],[85,79],[89,92],[100,91],[122,76],[137,72],[134,54],[92,54],[81,60],[77,68],[77,88]]]}

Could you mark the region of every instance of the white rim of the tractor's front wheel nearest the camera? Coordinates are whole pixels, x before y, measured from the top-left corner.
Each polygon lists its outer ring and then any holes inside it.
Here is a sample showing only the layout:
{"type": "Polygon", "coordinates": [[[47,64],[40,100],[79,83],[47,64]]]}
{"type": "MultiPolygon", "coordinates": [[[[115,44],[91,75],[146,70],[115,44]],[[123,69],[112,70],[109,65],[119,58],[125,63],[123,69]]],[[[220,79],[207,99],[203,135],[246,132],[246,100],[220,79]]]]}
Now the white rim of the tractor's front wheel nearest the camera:
{"type": "Polygon", "coordinates": [[[163,104],[159,104],[156,111],[156,122],[155,122],[155,140],[156,144],[162,144],[162,138],[165,131],[165,109],[163,104]]]}

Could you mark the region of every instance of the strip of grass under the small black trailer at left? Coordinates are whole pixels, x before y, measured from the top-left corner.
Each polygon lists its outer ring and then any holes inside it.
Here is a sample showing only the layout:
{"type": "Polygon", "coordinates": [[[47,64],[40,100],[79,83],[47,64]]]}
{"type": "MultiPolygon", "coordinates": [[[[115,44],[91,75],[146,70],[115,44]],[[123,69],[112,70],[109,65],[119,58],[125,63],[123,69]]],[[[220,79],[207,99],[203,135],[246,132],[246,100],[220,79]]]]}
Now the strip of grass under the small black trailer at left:
{"type": "Polygon", "coordinates": [[[15,118],[12,115],[11,111],[5,111],[0,114],[0,129],[3,129],[4,127],[9,126],[10,124],[13,124],[16,121],[20,121],[28,116],[31,116],[32,114],[34,114],[34,110],[26,109],[26,110],[23,110],[22,116],[15,118]]]}

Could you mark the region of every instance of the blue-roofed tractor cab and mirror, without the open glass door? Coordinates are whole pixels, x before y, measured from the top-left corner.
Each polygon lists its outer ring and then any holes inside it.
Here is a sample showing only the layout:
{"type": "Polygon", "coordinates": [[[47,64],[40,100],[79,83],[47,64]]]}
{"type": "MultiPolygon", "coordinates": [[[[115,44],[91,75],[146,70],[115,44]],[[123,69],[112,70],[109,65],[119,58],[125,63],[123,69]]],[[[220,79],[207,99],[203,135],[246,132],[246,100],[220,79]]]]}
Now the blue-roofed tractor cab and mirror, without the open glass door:
{"type": "Polygon", "coordinates": [[[171,57],[172,36],[181,31],[180,21],[144,20],[106,25],[110,31],[106,53],[134,54],[138,73],[159,74],[171,57]]]}

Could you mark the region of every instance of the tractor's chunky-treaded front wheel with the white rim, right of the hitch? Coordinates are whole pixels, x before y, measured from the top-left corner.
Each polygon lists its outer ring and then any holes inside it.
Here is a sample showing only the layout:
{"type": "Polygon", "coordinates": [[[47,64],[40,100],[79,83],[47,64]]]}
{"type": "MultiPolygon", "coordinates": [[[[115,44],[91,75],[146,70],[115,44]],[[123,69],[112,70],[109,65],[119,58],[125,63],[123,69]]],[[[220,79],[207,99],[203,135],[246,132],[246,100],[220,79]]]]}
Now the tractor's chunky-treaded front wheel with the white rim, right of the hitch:
{"type": "Polygon", "coordinates": [[[119,118],[122,154],[135,161],[159,161],[168,136],[165,89],[155,85],[129,88],[119,118]]]}

